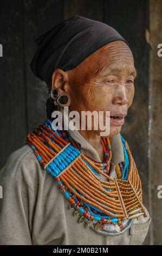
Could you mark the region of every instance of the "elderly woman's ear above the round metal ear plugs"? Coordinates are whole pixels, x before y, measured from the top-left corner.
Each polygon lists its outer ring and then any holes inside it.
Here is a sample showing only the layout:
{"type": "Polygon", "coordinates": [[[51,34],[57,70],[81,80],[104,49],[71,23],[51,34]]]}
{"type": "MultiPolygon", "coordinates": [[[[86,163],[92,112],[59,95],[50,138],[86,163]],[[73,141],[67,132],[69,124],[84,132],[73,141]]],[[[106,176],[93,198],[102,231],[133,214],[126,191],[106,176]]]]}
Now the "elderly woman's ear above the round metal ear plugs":
{"type": "Polygon", "coordinates": [[[69,93],[68,73],[61,69],[55,69],[51,79],[51,89],[58,89],[60,94],[69,93]]]}

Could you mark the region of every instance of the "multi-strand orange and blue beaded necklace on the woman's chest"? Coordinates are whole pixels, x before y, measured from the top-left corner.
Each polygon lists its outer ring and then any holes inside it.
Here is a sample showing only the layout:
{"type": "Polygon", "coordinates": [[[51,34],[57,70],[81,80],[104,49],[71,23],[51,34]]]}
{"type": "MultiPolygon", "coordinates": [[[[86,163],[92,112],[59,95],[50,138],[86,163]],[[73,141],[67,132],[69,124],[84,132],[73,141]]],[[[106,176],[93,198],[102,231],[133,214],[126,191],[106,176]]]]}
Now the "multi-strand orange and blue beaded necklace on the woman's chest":
{"type": "Polygon", "coordinates": [[[118,178],[112,179],[109,169],[112,150],[109,138],[101,138],[103,163],[96,162],[79,150],[79,144],[68,132],[52,129],[48,119],[27,136],[37,160],[53,175],[61,191],[79,216],[102,235],[120,235],[131,227],[134,218],[146,212],[142,204],[141,181],[128,144],[121,136],[125,161],[115,166],[118,178]],[[103,175],[107,178],[102,180],[103,175]]]}

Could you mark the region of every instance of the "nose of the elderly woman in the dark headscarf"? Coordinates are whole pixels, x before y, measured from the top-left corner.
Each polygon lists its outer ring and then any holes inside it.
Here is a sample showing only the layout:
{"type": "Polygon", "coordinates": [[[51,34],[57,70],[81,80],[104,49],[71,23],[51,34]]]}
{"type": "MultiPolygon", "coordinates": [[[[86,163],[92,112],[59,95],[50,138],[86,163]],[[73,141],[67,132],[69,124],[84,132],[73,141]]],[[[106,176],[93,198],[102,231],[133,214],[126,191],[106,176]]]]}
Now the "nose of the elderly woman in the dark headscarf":
{"type": "Polygon", "coordinates": [[[126,105],[128,103],[125,86],[120,86],[114,94],[113,104],[126,105]]]}

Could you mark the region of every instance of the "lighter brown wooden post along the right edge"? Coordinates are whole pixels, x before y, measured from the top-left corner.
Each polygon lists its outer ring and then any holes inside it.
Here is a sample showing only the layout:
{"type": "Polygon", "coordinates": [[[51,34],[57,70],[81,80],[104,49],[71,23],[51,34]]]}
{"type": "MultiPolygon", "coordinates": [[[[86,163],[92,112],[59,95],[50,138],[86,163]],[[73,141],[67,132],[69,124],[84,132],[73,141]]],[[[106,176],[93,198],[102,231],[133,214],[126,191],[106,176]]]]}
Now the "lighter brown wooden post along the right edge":
{"type": "Polygon", "coordinates": [[[157,45],[162,44],[162,3],[161,0],[150,1],[150,96],[149,96],[149,200],[152,215],[151,243],[162,243],[162,199],[157,197],[157,188],[162,185],[162,57],[157,55],[157,45]]]}

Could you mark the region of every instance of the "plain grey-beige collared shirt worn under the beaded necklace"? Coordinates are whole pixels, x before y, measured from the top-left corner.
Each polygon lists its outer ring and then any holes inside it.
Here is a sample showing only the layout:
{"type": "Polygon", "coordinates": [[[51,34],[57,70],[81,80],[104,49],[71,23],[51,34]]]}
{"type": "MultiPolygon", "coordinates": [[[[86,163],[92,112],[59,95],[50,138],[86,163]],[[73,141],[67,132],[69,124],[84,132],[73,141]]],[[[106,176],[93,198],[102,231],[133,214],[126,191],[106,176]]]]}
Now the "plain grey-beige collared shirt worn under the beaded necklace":
{"type": "MultiPolygon", "coordinates": [[[[100,161],[95,149],[79,133],[69,131],[83,153],[100,161]]],[[[115,164],[124,161],[120,135],[111,137],[112,178],[115,164]]],[[[151,222],[143,216],[130,230],[111,237],[96,234],[79,223],[55,179],[37,161],[29,145],[9,157],[0,173],[3,199],[0,199],[1,245],[141,245],[151,222]]]]}

